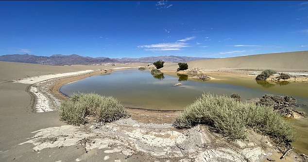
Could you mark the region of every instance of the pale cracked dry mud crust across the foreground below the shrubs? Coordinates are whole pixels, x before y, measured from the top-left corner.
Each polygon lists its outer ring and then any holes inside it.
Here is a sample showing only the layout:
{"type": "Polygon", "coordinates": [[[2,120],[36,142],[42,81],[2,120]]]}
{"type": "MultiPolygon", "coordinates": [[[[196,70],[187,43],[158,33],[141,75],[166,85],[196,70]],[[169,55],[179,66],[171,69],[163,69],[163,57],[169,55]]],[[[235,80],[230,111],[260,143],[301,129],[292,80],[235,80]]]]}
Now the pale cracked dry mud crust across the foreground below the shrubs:
{"type": "Polygon", "coordinates": [[[142,124],[130,118],[105,125],[87,125],[84,129],[60,126],[32,133],[35,135],[21,144],[32,143],[35,151],[81,145],[85,151],[107,149],[105,153],[118,152],[127,158],[138,154],[170,162],[259,162],[271,155],[271,149],[266,148],[271,144],[263,136],[250,142],[230,143],[206,126],[181,131],[170,124],[142,124]],[[266,147],[261,148],[257,141],[266,147]]]}

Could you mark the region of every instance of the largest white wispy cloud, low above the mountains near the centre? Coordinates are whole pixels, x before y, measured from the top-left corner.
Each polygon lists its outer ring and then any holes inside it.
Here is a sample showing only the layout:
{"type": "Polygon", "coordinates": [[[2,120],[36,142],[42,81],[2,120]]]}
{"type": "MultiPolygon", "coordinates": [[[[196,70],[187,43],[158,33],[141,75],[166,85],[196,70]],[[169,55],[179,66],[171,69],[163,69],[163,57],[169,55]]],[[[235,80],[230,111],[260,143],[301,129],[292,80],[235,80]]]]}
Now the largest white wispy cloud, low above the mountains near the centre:
{"type": "Polygon", "coordinates": [[[177,51],[181,48],[189,47],[188,43],[175,42],[175,43],[158,43],[149,45],[140,45],[138,48],[145,48],[145,51],[177,51]]]}

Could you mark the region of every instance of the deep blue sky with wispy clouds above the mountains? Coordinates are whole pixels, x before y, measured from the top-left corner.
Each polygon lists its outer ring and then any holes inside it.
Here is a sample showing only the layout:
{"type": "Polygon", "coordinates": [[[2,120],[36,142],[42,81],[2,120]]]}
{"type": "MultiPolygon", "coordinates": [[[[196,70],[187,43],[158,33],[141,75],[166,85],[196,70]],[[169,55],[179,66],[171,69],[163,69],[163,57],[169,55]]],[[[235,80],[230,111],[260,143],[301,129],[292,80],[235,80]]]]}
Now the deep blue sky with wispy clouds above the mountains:
{"type": "Polygon", "coordinates": [[[232,57],[308,50],[308,1],[0,1],[0,55],[232,57]]]}

